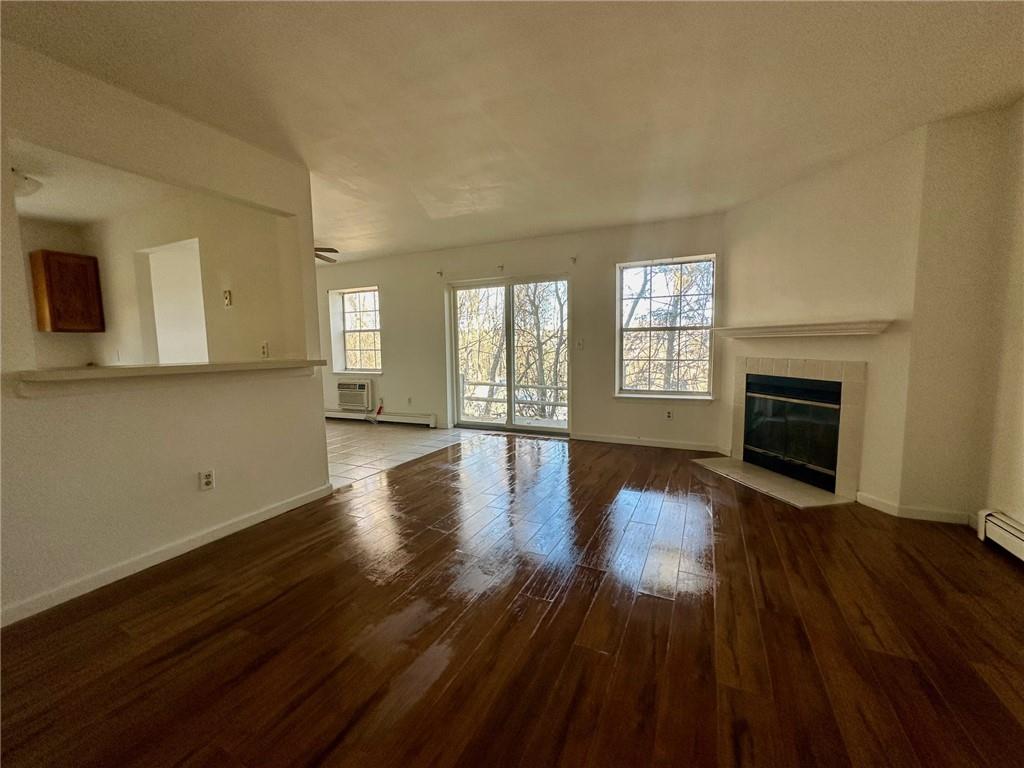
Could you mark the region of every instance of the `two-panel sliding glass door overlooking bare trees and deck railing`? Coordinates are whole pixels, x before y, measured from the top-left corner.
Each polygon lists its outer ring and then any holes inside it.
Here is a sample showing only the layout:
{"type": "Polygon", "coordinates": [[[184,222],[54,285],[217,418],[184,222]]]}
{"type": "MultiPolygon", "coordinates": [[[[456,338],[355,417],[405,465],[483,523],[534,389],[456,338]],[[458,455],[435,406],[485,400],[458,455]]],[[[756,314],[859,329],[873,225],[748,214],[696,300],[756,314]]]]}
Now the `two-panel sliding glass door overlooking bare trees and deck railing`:
{"type": "Polygon", "coordinates": [[[455,289],[461,424],[568,429],[568,284],[455,289]]]}

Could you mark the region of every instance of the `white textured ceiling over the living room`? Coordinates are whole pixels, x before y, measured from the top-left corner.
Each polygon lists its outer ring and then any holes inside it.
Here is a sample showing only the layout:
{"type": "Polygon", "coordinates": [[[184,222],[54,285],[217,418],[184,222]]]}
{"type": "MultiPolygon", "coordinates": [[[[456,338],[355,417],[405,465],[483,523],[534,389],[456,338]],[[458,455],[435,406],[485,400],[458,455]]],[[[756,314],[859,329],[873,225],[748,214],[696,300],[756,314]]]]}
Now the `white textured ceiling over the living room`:
{"type": "Polygon", "coordinates": [[[312,174],[347,257],[733,206],[1024,91],[1014,3],[3,3],[312,174]]]}

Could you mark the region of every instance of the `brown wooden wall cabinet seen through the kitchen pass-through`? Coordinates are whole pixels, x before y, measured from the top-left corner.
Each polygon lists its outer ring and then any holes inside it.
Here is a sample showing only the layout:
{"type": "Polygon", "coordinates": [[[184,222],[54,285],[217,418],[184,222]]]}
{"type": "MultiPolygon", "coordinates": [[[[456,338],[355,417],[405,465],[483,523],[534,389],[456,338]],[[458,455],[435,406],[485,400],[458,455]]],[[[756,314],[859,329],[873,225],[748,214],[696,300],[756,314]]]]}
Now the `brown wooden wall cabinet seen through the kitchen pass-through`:
{"type": "Polygon", "coordinates": [[[29,258],[36,296],[36,324],[40,331],[100,333],[105,330],[99,260],[95,256],[33,251],[29,258]]]}

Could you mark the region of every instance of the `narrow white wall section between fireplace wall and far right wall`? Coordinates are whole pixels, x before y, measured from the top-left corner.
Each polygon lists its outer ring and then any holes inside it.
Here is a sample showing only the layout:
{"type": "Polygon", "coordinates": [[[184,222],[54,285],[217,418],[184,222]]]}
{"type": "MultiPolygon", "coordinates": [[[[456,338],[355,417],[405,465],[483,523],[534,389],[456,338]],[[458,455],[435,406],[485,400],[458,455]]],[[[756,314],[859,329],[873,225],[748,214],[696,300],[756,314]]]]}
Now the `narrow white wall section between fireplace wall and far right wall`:
{"type": "MultiPolygon", "coordinates": [[[[985,504],[1006,290],[1009,113],[928,126],[900,504],[985,504]],[[1006,202],[1005,202],[1006,201],[1006,202]]],[[[1019,258],[1019,256],[1018,256],[1019,258]]]]}

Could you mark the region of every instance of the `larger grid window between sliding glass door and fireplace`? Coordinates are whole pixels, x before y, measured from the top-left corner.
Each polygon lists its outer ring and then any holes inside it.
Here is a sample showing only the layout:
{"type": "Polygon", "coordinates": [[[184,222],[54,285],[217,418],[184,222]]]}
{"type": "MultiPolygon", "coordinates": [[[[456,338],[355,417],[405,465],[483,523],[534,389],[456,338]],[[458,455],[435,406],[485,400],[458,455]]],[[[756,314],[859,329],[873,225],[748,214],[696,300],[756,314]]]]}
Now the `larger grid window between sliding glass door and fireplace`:
{"type": "Polygon", "coordinates": [[[711,395],[715,256],[618,264],[621,395],[711,395]]]}

